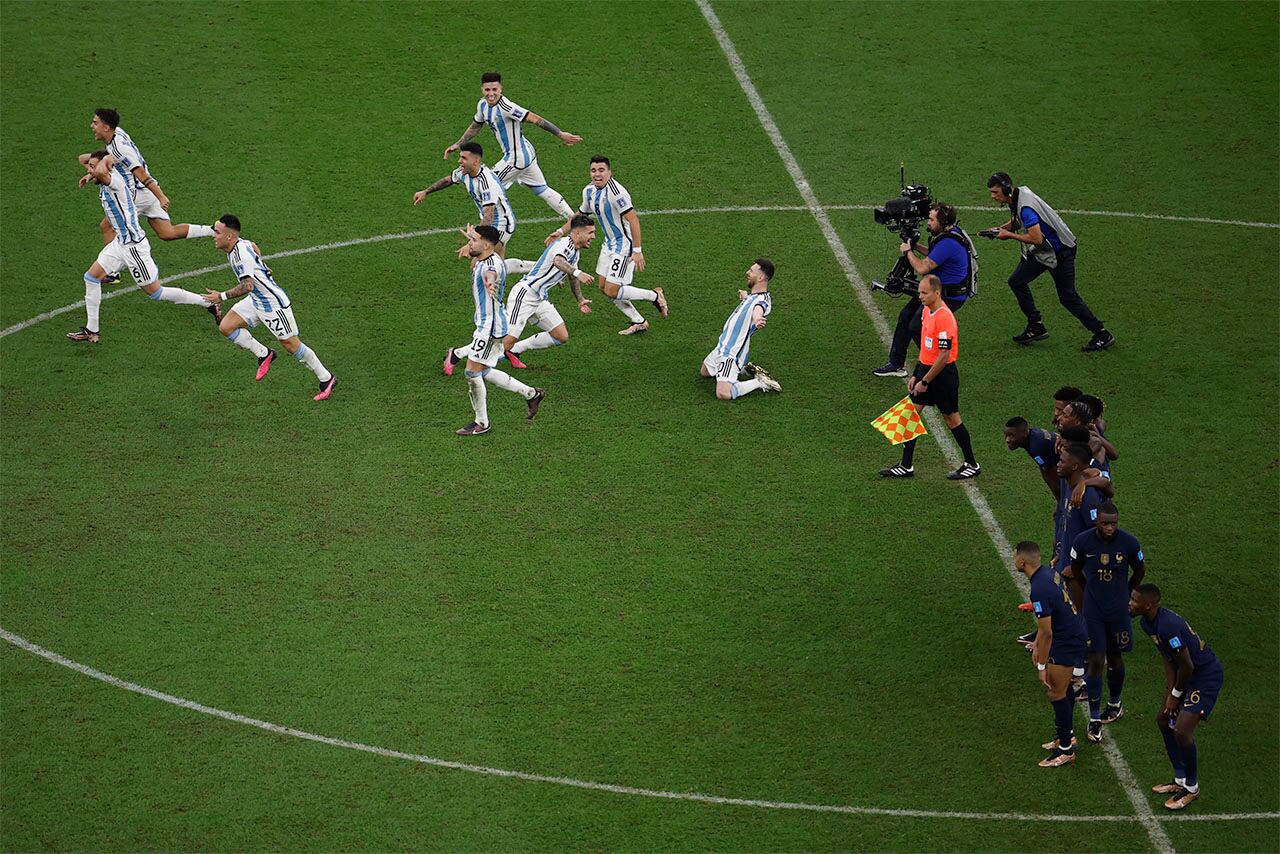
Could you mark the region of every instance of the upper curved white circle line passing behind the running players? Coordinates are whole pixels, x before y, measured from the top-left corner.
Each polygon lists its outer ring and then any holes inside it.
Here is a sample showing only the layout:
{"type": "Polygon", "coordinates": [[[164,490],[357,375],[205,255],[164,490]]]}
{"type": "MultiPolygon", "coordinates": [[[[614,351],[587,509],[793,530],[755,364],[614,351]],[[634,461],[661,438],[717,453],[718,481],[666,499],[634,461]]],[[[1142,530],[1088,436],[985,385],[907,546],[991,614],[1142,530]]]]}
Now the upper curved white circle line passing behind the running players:
{"type": "MultiPolygon", "coordinates": [[[[876,205],[823,205],[827,210],[872,210],[876,205]]],[[[995,210],[993,206],[979,206],[979,205],[957,205],[960,210],[995,210]]],[[[645,216],[671,216],[678,214],[750,214],[750,213],[797,213],[808,211],[809,209],[804,205],[730,205],[724,207],[667,207],[662,210],[643,210],[640,211],[645,216]]],[[[1076,214],[1083,216],[1123,216],[1126,219],[1149,219],[1149,220],[1164,220],[1172,223],[1199,223],[1202,225],[1239,225],[1243,228],[1277,228],[1280,229],[1280,223],[1253,223],[1243,219],[1212,219],[1210,216],[1172,216],[1169,214],[1142,214],[1123,210],[1076,210],[1070,207],[1062,209],[1064,214],[1076,214]]],[[[534,219],[522,219],[522,223],[536,224],[536,223],[558,223],[558,218],[553,216],[538,216],[534,219]]],[[[284,252],[275,252],[274,255],[265,256],[268,260],[276,257],[289,257],[292,255],[311,255],[312,252],[326,252],[329,250],[339,250],[346,246],[364,246],[365,243],[381,243],[384,241],[403,241],[411,237],[433,237],[435,234],[448,234],[454,232],[457,228],[428,228],[421,232],[397,232],[393,234],[378,234],[375,237],[357,237],[351,241],[337,241],[334,243],[320,243],[319,246],[306,246],[298,250],[287,250],[284,252]]],[[[178,282],[180,279],[189,279],[196,275],[204,275],[206,273],[214,273],[215,270],[221,270],[225,264],[218,264],[215,266],[202,266],[196,270],[187,270],[186,273],[175,273],[170,277],[160,279],[160,284],[169,284],[170,282],[178,282]]],[[[134,287],[119,288],[118,291],[111,291],[104,293],[104,300],[110,300],[111,297],[118,297],[122,293],[131,293],[136,291],[134,287]]],[[[77,309],[83,309],[84,301],[79,300],[60,309],[52,309],[50,311],[41,312],[35,318],[28,318],[27,320],[20,320],[12,326],[0,329],[0,338],[12,335],[15,332],[22,332],[28,326],[35,326],[42,320],[49,320],[56,318],[58,315],[67,314],[68,311],[76,311],[77,309]]]]}

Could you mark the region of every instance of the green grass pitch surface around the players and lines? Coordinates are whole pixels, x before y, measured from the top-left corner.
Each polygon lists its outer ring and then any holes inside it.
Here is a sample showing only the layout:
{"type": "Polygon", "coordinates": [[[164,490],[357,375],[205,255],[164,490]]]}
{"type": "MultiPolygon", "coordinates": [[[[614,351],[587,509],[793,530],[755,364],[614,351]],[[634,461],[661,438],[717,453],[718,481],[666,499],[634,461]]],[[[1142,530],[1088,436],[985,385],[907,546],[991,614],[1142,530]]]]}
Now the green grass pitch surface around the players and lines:
{"type": "MultiPolygon", "coordinates": [[[[961,224],[996,224],[1009,170],[1066,210],[1079,286],[1117,338],[1036,293],[1019,350],[983,242],[960,318],[979,487],[1014,540],[1052,499],[1001,426],[1051,392],[1107,401],[1121,524],[1148,577],[1226,667],[1199,729],[1204,795],[1179,850],[1274,850],[1277,481],[1277,5],[717,3],[760,96],[865,278],[896,242],[868,210],[897,166],[961,224]]],[[[0,6],[0,328],[83,296],[97,201],[77,191],[95,106],[115,106],[174,222],[232,210],[268,254],[474,219],[445,174],[479,73],[580,133],[530,131],[576,201],[604,152],[641,213],[672,314],[618,338],[558,297],[572,338],[492,391],[462,442],[468,333],[453,233],[273,262],[302,338],[340,378],[264,383],[207,316],[129,293],[104,341],[77,310],[0,337],[0,626],[219,709],[390,750],[673,793],[924,813],[1134,816],[1102,752],[1036,766],[1051,714],[1010,643],[1027,620],[928,440],[911,483],[868,426],[901,396],[882,346],[694,3],[0,6]],[[741,213],[650,214],[756,206],[741,213]],[[780,396],[696,376],[742,273],[778,266],[753,359],[780,396]],[[566,307],[567,306],[567,307],[566,307]]],[[[486,154],[497,151],[485,131],[486,154]]],[[[493,156],[486,157],[493,161],[493,156]]],[[[512,188],[511,254],[550,230],[512,188]]],[[[163,243],[164,275],[221,264],[163,243]]],[[[595,250],[589,254],[594,264],[595,250]]],[[[225,269],[180,283],[232,284],[225,269]]],[[[877,296],[891,319],[899,305],[877,296]]],[[[655,314],[648,306],[648,315],[655,314]]],[[[1157,654],[1128,658],[1108,729],[1143,793],[1169,776],[1157,654]]],[[[1079,718],[1078,718],[1079,721],[1079,718]]],[[[1143,798],[1162,812],[1156,796],[1143,798]]],[[[1137,821],[841,814],[590,791],[269,734],[0,644],[0,848],[1149,850],[1137,821]]]]}

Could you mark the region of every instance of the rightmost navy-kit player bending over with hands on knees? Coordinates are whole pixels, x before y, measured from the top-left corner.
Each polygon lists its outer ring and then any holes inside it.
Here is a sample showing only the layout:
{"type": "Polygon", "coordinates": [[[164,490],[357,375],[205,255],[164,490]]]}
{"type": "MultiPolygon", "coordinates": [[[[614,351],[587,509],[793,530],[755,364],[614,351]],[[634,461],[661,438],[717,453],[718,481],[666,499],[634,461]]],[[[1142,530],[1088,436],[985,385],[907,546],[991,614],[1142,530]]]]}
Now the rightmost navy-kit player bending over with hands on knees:
{"type": "Polygon", "coordinates": [[[1174,781],[1152,786],[1169,795],[1167,809],[1184,809],[1199,798],[1196,725],[1207,721],[1222,690],[1222,662],[1180,616],[1161,607],[1160,588],[1139,584],[1129,597],[1129,613],[1142,617],[1142,630],[1156,641],[1165,658],[1165,685],[1169,691],[1156,716],[1165,739],[1174,781]]]}

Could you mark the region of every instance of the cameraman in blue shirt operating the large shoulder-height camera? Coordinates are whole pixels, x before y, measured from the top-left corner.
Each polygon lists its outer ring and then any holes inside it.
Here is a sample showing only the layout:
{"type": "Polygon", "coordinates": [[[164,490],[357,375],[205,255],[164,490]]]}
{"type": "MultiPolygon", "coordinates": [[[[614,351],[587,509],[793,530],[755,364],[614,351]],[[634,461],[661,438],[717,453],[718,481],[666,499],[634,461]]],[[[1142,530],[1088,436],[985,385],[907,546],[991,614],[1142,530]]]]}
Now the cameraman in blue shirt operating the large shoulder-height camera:
{"type": "MultiPolygon", "coordinates": [[[[919,243],[902,243],[899,251],[915,270],[916,275],[938,277],[942,282],[942,301],[952,312],[960,311],[974,293],[977,265],[972,262],[973,241],[956,225],[956,209],[951,205],[936,204],[929,209],[928,222],[929,247],[919,243]],[[919,252],[920,255],[916,255],[919,252]],[[922,255],[924,257],[922,257],[922,255]]],[[[897,314],[893,328],[893,343],[888,348],[888,361],[872,373],[877,376],[906,376],[906,344],[920,339],[919,296],[913,296],[897,314]]]]}

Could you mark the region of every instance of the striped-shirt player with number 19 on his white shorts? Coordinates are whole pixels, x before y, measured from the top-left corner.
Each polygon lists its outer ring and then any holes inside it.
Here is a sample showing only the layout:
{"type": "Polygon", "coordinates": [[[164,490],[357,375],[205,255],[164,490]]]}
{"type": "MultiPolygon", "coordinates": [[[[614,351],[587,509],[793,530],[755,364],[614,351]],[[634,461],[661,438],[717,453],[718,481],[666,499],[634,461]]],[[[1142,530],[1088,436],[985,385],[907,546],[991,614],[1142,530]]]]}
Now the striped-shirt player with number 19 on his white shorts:
{"type": "Polygon", "coordinates": [[[479,225],[471,232],[467,241],[468,251],[475,260],[471,265],[471,296],[476,303],[476,330],[467,353],[466,376],[475,420],[456,430],[458,435],[480,435],[489,431],[485,383],[524,397],[529,403],[529,420],[538,415],[538,407],[541,406],[543,398],[547,396],[547,389],[530,388],[494,367],[502,359],[502,339],[507,334],[507,312],[502,305],[507,284],[507,268],[497,252],[499,238],[500,234],[493,225],[479,225]]]}

